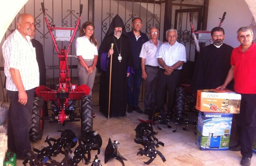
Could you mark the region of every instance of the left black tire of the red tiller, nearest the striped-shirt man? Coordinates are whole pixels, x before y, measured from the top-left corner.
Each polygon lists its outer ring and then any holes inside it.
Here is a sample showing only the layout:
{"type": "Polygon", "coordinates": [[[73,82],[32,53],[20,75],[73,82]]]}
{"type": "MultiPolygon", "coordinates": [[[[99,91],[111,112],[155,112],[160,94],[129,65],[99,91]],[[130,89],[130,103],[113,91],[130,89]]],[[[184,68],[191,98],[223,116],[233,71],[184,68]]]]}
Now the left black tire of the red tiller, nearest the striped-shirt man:
{"type": "Polygon", "coordinates": [[[35,97],[33,102],[32,125],[30,128],[30,140],[42,140],[43,136],[43,99],[35,97]]]}

